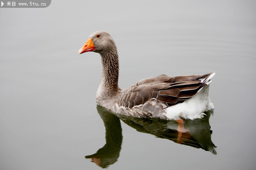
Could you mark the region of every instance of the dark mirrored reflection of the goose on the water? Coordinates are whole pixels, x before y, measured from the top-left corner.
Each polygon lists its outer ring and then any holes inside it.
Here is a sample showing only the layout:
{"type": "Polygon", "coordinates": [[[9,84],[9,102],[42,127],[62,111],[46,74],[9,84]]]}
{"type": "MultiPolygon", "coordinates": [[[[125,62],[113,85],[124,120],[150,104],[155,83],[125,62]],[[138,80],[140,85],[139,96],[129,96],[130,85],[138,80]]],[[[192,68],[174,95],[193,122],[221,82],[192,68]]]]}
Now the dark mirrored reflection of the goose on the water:
{"type": "Polygon", "coordinates": [[[204,112],[206,116],[202,119],[179,119],[177,121],[164,119],[134,118],[113,114],[106,108],[97,105],[97,111],[106,128],[106,144],[95,154],[85,156],[91,158],[91,162],[107,168],[117,162],[122,145],[122,127],[120,119],[138,132],[152,134],[159,138],[169,139],[175,143],[202,148],[217,154],[216,146],[211,141],[212,130],[210,130],[209,118],[213,110],[204,112]]]}

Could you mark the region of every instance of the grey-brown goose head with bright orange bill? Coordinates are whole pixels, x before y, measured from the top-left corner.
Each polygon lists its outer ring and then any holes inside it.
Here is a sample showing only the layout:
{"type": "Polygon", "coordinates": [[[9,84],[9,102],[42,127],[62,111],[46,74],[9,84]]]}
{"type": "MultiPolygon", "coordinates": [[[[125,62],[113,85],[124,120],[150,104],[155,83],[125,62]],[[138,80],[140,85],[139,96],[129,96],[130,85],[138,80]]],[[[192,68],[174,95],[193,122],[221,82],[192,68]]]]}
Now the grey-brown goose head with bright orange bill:
{"type": "Polygon", "coordinates": [[[78,54],[89,51],[102,53],[109,50],[116,50],[113,38],[105,31],[96,31],[89,36],[83,47],[78,51],[78,54]]]}

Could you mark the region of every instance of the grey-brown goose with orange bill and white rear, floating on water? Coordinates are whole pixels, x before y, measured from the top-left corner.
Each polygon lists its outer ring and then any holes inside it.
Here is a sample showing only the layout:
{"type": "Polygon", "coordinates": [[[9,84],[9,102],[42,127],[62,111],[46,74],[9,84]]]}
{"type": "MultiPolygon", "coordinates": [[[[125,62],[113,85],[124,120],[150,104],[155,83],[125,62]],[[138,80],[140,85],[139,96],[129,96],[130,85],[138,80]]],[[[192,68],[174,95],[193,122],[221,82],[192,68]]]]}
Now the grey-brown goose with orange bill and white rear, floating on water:
{"type": "Polygon", "coordinates": [[[162,74],[120,89],[119,58],[111,35],[105,31],[92,33],[78,54],[89,51],[99,53],[102,61],[96,102],[111,112],[138,118],[193,120],[214,109],[209,84],[215,72],[175,77],[162,74]]]}

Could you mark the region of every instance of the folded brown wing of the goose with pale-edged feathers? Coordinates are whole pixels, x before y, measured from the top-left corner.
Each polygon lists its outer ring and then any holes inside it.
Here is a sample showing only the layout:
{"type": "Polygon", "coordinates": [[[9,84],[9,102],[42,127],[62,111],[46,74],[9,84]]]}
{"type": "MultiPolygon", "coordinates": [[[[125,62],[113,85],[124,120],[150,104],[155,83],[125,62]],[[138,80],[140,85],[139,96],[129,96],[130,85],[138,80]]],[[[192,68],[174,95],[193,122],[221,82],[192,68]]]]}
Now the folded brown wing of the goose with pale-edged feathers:
{"type": "MultiPolygon", "coordinates": [[[[211,74],[211,73],[210,73],[211,74]]],[[[119,106],[132,108],[146,103],[152,98],[175,105],[195,96],[206,84],[200,79],[210,74],[169,77],[160,75],[138,81],[128,89],[124,89],[117,99],[119,106]]]]}

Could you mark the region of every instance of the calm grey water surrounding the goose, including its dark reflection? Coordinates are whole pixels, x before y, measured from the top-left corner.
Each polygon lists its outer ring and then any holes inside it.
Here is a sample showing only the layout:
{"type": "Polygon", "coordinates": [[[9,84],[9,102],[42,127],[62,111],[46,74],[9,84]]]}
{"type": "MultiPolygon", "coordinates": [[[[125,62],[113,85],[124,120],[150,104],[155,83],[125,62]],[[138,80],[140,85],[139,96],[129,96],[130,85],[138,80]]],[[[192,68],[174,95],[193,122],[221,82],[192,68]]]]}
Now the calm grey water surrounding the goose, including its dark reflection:
{"type": "Polygon", "coordinates": [[[255,169],[255,6],[55,0],[0,8],[0,169],[255,169]],[[77,52],[99,30],[116,42],[121,88],[216,71],[213,113],[184,120],[189,132],[180,137],[175,121],[97,106],[100,56],[77,52]]]}

